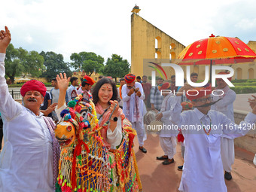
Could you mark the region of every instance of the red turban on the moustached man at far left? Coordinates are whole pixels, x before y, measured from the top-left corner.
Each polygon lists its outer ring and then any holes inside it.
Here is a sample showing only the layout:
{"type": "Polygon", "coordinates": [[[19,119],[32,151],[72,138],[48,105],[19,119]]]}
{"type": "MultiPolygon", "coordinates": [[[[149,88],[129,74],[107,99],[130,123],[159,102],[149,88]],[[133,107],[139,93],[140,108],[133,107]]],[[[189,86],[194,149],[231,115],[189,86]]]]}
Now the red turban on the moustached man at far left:
{"type": "Polygon", "coordinates": [[[26,81],[26,83],[23,84],[23,86],[20,88],[20,94],[22,96],[25,96],[25,94],[29,90],[39,91],[42,94],[42,96],[45,96],[45,93],[47,91],[45,85],[41,81],[36,81],[36,80],[26,81]]]}

